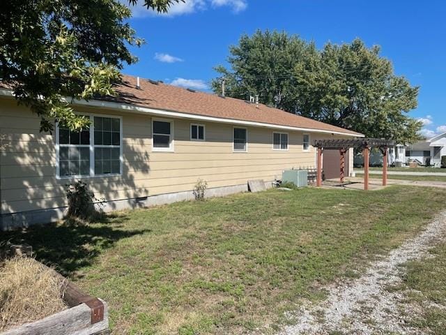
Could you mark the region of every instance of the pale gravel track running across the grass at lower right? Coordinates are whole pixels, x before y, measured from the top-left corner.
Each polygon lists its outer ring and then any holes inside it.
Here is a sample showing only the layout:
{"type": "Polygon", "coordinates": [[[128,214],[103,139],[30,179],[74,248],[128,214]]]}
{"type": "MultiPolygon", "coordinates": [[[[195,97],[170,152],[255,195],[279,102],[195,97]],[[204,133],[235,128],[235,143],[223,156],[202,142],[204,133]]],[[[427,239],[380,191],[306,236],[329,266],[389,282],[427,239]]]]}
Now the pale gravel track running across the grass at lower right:
{"type": "Polygon", "coordinates": [[[403,292],[388,288],[401,283],[401,265],[427,257],[429,248],[445,234],[443,211],[424,232],[373,262],[360,278],[328,286],[328,299],[321,304],[305,302],[299,311],[289,313],[297,323],[279,334],[423,334],[406,323],[404,315],[413,313],[414,307],[404,302],[403,292]]]}

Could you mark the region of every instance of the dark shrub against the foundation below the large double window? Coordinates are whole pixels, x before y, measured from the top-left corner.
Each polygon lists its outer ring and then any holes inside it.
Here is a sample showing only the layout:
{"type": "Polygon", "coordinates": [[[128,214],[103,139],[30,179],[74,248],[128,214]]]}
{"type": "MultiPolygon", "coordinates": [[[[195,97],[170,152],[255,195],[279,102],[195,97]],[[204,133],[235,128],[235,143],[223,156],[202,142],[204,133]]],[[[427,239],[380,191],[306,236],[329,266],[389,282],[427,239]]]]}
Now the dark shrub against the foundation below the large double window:
{"type": "Polygon", "coordinates": [[[83,181],[76,181],[74,184],[66,185],[68,199],[67,216],[70,218],[82,218],[91,220],[98,218],[103,212],[104,199],[97,199],[93,192],[83,181]],[[95,203],[99,209],[95,208],[95,203]]]}

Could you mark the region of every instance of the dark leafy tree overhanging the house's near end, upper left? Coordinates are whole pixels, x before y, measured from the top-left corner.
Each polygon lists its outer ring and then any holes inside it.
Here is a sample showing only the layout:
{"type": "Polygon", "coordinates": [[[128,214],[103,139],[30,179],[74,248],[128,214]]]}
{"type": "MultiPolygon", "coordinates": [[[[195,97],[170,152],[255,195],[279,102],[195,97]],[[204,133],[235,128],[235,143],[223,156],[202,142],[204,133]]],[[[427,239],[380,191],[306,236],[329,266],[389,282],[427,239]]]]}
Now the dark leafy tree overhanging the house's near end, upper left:
{"type": "MultiPolygon", "coordinates": [[[[166,12],[183,0],[145,0],[166,12]]],[[[123,64],[137,61],[129,47],[143,41],[128,24],[137,0],[6,0],[0,6],[0,80],[41,117],[70,128],[88,126],[64,98],[114,94],[123,64]]]]}

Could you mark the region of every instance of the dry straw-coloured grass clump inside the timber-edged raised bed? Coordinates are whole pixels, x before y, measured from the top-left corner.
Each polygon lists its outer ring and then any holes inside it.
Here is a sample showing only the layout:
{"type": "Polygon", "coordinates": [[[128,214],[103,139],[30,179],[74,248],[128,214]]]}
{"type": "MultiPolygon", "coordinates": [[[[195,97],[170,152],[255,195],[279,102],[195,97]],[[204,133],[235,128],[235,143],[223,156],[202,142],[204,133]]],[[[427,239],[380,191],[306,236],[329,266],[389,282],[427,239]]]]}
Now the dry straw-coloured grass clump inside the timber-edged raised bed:
{"type": "Polygon", "coordinates": [[[66,309],[63,294],[61,279],[33,258],[0,263],[0,332],[66,309]]]}

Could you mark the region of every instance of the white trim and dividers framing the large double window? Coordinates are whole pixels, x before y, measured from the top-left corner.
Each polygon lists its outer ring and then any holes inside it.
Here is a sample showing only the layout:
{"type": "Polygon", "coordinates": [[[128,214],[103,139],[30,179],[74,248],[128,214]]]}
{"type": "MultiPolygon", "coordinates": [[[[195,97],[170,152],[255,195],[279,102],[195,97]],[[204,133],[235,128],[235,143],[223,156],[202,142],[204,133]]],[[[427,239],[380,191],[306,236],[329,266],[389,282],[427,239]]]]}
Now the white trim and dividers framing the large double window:
{"type": "Polygon", "coordinates": [[[95,177],[116,177],[123,174],[123,117],[120,115],[108,115],[108,114],[93,114],[93,113],[79,113],[90,118],[90,144],[60,144],[59,143],[59,124],[56,123],[56,179],[85,179],[95,177]],[[119,119],[119,173],[108,174],[95,174],[95,147],[112,147],[117,148],[117,145],[96,145],[95,146],[95,126],[94,117],[110,117],[112,119],[119,119]],[[61,168],[59,164],[59,151],[60,147],[89,147],[90,148],[90,175],[76,175],[76,176],[61,176],[61,168]]]}

